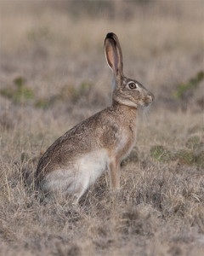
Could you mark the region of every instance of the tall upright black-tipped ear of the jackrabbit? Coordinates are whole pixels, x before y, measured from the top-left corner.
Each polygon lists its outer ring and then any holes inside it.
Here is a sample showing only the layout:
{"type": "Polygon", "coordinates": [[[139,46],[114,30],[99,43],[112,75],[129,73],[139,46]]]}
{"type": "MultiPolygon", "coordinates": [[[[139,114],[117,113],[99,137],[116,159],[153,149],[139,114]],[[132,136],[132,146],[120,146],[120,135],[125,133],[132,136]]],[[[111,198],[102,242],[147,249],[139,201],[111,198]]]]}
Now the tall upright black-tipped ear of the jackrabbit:
{"type": "Polygon", "coordinates": [[[122,49],[114,33],[108,33],[105,38],[105,56],[115,77],[122,76],[122,49]]]}

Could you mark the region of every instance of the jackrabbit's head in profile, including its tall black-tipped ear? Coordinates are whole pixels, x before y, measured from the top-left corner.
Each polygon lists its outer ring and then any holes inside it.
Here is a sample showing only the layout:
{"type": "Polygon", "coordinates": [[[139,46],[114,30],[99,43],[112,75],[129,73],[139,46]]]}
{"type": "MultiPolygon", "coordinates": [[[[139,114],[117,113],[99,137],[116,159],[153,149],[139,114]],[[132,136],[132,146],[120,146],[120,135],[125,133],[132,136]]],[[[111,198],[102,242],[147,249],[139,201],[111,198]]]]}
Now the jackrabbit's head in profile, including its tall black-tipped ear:
{"type": "Polygon", "coordinates": [[[122,49],[116,34],[112,32],[108,33],[105,38],[105,56],[114,74],[113,102],[138,108],[139,106],[146,107],[154,101],[155,96],[142,84],[123,75],[122,49]]]}

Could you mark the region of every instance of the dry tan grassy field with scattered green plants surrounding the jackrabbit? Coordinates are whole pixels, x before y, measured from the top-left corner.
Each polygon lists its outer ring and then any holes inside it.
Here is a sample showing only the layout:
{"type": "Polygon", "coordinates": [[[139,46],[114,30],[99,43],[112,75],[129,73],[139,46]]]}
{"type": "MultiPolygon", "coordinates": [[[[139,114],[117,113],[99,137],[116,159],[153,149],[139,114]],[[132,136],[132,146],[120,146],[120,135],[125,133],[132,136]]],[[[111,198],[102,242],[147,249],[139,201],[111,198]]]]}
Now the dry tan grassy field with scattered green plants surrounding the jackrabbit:
{"type": "Polygon", "coordinates": [[[204,252],[203,1],[0,0],[0,254],[204,252]],[[54,140],[111,104],[107,32],[124,71],[154,93],[139,111],[121,190],[108,175],[78,207],[37,195],[54,140]]]}

